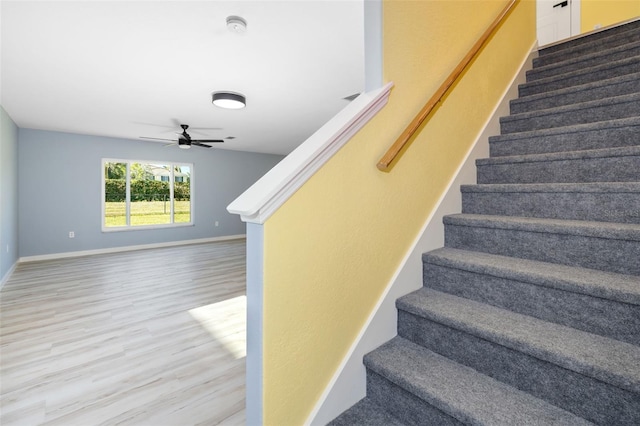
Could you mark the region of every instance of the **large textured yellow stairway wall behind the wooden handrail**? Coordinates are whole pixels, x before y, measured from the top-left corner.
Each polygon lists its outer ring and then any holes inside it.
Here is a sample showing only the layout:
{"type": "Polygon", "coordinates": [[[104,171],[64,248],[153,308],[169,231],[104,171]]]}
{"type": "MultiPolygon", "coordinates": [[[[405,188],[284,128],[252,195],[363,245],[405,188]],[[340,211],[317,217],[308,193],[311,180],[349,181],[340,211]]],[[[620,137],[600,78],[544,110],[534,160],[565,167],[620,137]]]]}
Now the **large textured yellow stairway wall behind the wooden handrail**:
{"type": "Polygon", "coordinates": [[[535,3],[523,0],[397,166],[376,169],[506,3],[384,1],[389,104],[264,224],[266,425],[307,418],[529,54],[535,3]]]}

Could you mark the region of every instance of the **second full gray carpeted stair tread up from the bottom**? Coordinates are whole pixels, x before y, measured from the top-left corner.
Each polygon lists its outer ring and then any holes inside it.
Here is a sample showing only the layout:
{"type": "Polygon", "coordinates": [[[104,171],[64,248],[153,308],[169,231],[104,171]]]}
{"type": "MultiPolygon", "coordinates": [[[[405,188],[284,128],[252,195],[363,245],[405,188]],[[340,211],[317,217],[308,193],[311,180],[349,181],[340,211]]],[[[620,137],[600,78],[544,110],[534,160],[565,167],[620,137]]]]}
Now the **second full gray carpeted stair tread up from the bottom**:
{"type": "MultiPolygon", "coordinates": [[[[426,287],[398,309],[640,394],[640,347],[426,287]]],[[[639,395],[640,396],[640,395],[639,395]]]]}

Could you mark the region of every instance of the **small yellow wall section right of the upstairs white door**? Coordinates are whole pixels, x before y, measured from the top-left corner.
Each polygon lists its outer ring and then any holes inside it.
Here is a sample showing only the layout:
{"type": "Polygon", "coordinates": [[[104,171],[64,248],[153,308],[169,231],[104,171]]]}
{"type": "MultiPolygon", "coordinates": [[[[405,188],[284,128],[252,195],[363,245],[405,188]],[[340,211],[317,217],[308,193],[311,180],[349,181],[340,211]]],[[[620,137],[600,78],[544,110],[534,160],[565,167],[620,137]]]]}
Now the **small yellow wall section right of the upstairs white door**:
{"type": "Polygon", "coordinates": [[[606,27],[640,17],[640,0],[582,0],[580,29],[593,31],[596,25],[606,27]]]}

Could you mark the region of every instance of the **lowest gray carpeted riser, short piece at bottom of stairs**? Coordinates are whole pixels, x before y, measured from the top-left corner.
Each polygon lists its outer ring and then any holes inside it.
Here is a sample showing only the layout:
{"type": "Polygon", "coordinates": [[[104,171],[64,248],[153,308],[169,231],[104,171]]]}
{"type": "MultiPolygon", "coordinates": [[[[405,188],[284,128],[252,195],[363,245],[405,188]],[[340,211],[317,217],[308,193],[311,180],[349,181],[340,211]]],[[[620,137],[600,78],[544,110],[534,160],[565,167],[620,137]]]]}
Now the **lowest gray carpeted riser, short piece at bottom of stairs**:
{"type": "Polygon", "coordinates": [[[367,396],[406,425],[463,425],[370,369],[367,369],[367,396]]]}

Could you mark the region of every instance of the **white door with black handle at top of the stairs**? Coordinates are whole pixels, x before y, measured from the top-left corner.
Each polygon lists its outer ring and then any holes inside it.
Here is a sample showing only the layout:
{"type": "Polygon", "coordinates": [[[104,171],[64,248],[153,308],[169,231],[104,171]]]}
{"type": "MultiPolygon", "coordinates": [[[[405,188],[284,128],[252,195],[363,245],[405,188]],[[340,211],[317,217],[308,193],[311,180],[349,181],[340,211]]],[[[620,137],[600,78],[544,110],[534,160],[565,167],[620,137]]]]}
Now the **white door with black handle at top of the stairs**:
{"type": "Polygon", "coordinates": [[[578,7],[578,0],[538,0],[538,45],[544,46],[579,34],[578,7]]]}

